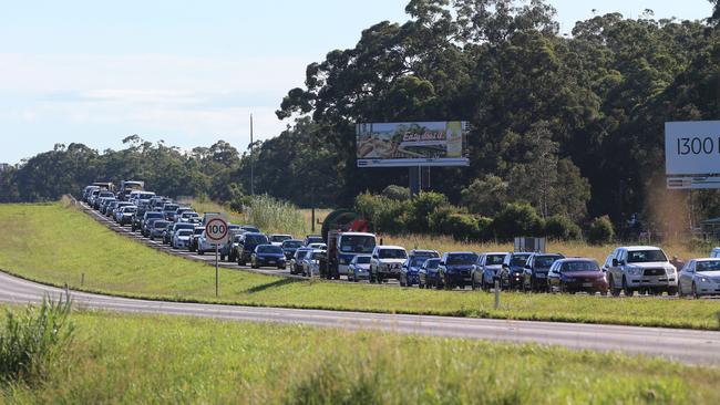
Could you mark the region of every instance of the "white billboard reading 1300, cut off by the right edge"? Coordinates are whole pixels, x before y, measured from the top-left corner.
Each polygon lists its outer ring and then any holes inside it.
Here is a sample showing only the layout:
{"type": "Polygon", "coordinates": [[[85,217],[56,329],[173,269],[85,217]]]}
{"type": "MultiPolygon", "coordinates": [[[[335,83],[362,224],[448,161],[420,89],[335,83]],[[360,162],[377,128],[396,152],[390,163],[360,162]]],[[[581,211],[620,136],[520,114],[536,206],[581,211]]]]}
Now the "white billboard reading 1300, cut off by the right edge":
{"type": "Polygon", "coordinates": [[[665,124],[667,175],[720,174],[720,121],[665,124]]]}

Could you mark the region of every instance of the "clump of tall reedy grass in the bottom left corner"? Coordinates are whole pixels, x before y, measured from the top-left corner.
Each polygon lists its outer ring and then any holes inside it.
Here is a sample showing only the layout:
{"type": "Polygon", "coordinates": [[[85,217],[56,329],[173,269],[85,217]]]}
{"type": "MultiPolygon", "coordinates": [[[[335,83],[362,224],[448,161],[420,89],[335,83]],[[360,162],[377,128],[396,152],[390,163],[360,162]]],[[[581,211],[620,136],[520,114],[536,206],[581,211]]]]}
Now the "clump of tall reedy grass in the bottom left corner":
{"type": "Polygon", "coordinates": [[[0,378],[32,382],[47,376],[74,332],[71,301],[44,297],[40,307],[8,310],[0,332],[0,378]]]}

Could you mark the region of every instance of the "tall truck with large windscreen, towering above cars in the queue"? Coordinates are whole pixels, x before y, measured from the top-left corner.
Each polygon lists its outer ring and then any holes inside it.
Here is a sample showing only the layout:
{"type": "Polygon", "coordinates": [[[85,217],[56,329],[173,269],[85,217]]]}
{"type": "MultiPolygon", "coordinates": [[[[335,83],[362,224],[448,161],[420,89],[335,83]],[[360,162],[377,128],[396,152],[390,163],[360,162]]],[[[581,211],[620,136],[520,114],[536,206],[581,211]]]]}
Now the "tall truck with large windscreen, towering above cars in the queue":
{"type": "Polygon", "coordinates": [[[327,253],[320,259],[320,277],[339,280],[340,276],[348,276],[356,256],[372,253],[377,241],[374,233],[331,230],[327,243],[327,253]]]}

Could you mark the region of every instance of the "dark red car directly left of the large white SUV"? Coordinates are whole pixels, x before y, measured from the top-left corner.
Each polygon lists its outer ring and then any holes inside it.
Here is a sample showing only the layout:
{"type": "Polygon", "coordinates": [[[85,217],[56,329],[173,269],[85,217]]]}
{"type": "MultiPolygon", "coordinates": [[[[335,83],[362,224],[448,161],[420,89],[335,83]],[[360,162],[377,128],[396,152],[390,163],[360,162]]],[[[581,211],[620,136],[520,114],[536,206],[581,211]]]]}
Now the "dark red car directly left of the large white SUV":
{"type": "Polygon", "coordinates": [[[599,292],[607,294],[605,273],[595,259],[559,259],[547,272],[547,290],[551,292],[599,292]]]}

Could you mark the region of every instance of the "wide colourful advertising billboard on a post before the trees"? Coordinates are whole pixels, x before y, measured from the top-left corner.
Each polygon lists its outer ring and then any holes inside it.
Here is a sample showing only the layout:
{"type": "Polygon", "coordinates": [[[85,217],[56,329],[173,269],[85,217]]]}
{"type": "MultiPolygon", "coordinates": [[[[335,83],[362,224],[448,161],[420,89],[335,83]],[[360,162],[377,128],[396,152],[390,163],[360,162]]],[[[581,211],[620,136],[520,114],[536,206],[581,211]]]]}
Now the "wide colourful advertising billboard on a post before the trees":
{"type": "Polygon", "coordinates": [[[470,166],[464,121],[357,124],[358,167],[470,166]]]}

